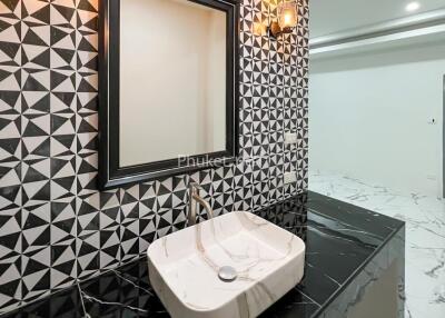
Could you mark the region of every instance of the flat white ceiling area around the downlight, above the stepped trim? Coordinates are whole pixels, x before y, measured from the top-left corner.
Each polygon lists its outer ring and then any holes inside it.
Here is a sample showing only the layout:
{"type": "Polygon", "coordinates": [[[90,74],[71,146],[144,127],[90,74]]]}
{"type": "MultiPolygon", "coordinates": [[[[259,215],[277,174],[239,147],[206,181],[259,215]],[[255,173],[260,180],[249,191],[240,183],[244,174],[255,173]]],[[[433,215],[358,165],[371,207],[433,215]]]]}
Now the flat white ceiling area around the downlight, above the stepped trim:
{"type": "Polygon", "coordinates": [[[310,0],[310,38],[376,24],[426,11],[445,9],[444,0],[418,0],[421,8],[407,12],[413,0],[310,0]]]}

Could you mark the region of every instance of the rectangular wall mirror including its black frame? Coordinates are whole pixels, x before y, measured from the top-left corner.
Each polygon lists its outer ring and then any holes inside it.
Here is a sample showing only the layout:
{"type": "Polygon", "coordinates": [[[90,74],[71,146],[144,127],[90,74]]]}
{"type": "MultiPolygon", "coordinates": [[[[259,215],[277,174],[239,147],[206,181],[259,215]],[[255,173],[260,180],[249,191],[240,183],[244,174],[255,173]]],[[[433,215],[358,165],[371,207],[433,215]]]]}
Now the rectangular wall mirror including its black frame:
{"type": "Polygon", "coordinates": [[[237,2],[100,1],[101,189],[235,160],[237,2]]]}

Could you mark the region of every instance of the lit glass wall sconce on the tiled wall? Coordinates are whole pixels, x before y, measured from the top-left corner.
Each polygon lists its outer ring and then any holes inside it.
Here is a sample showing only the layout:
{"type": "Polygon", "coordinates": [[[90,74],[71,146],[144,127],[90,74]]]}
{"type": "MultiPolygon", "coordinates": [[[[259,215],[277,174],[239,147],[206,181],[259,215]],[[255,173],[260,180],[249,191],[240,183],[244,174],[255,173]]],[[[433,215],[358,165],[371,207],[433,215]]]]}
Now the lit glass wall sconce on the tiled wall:
{"type": "Polygon", "coordinates": [[[270,23],[269,32],[274,38],[281,33],[291,33],[297,23],[297,3],[295,1],[283,1],[278,4],[278,21],[270,23]]]}

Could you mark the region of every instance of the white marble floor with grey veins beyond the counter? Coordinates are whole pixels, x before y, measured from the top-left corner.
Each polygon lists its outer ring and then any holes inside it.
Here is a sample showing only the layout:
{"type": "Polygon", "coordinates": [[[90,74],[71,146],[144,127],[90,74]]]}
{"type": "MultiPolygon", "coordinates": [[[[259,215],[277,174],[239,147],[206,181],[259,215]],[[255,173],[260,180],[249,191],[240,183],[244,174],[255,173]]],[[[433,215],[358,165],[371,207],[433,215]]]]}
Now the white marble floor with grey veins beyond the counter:
{"type": "Polygon", "coordinates": [[[309,190],[406,221],[405,317],[445,317],[445,200],[319,171],[309,190]]]}

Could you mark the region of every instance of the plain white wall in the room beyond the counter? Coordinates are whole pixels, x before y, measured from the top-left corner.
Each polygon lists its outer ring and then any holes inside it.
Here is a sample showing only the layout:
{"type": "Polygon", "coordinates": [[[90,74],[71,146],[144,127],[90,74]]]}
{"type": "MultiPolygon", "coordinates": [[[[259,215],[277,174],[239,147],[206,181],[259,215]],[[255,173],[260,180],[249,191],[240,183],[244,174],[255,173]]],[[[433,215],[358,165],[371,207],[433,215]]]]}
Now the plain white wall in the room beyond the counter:
{"type": "Polygon", "coordinates": [[[444,74],[443,43],[312,60],[309,170],[441,196],[444,74]]]}

